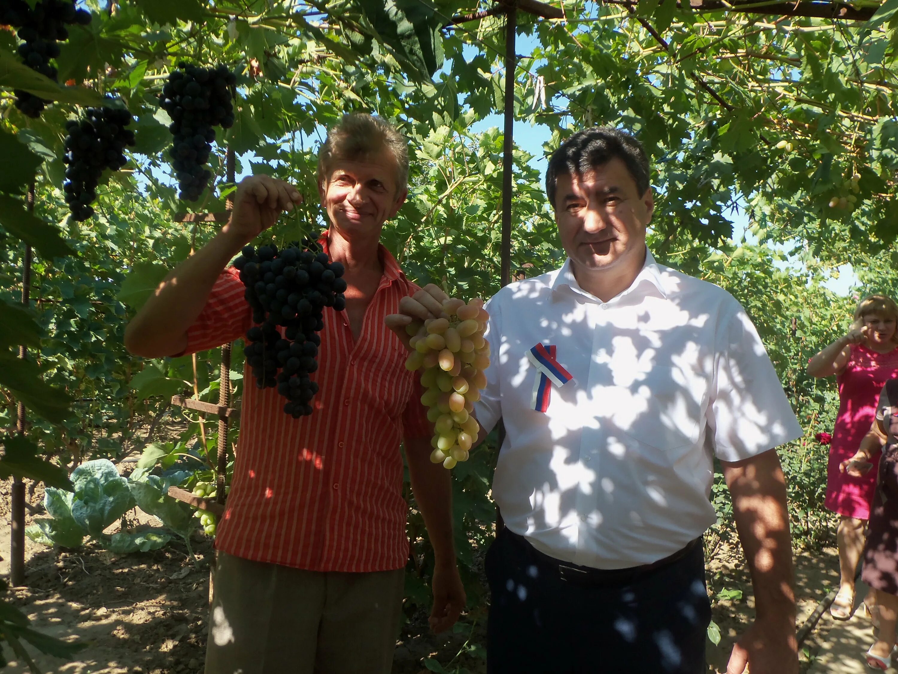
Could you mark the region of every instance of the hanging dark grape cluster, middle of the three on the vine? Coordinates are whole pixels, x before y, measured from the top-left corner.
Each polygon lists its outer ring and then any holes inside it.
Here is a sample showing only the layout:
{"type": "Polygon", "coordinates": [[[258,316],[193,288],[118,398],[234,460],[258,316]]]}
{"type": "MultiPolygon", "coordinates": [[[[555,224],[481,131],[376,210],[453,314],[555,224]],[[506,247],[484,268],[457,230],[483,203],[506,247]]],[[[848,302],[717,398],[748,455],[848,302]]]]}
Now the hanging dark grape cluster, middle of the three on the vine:
{"type": "Polygon", "coordinates": [[[125,108],[88,108],[84,120],[66,122],[66,203],[75,220],[93,215],[97,184],[107,168],[128,164],[124,150],[134,145],[134,131],[126,129],[131,113],[125,108]]]}

